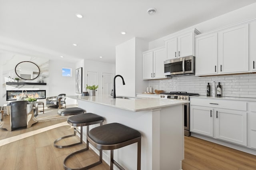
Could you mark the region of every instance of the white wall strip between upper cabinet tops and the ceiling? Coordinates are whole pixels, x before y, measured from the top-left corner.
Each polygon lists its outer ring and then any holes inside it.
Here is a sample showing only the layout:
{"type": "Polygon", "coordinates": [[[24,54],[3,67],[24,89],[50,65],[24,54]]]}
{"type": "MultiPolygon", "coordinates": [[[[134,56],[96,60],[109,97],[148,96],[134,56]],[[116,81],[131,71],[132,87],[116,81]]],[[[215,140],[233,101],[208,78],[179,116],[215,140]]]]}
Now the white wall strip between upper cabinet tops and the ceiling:
{"type": "MultiPolygon", "coordinates": [[[[205,33],[209,32],[218,28],[222,28],[224,26],[229,26],[235,24],[237,22],[242,22],[244,20],[256,18],[256,3],[245,6],[238,10],[234,10],[232,12],[226,13],[224,15],[218,16],[211,20],[207,20],[205,22],[201,22],[189,28],[186,28],[182,31],[190,30],[191,28],[196,28],[199,32],[205,33]]],[[[149,42],[149,49],[153,49],[156,47],[161,47],[164,45],[164,39],[169,38],[172,36],[170,35],[164,36],[162,38],[158,38],[152,42],[149,42]]]]}

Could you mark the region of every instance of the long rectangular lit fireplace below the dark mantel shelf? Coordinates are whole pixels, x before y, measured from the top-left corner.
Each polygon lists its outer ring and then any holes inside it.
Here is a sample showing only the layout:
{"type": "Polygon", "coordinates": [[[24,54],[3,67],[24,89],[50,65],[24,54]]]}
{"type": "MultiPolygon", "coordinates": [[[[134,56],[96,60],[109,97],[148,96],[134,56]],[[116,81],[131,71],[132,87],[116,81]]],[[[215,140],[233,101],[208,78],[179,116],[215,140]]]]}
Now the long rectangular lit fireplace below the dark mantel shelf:
{"type": "MultiPolygon", "coordinates": [[[[25,94],[26,91],[23,91],[25,94]]],[[[6,101],[16,100],[16,96],[21,96],[22,90],[8,90],[6,91],[6,101]]],[[[46,90],[27,90],[27,96],[35,99],[45,99],[46,90]]]]}

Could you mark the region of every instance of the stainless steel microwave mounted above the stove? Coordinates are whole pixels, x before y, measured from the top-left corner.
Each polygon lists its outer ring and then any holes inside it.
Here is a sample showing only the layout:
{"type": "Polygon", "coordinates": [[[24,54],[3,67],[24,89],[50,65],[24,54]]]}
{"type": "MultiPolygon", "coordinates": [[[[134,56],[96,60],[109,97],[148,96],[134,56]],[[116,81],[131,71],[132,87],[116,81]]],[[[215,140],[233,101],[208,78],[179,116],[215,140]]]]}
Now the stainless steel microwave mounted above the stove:
{"type": "Polygon", "coordinates": [[[190,55],[164,61],[164,75],[195,74],[195,57],[190,55]]]}

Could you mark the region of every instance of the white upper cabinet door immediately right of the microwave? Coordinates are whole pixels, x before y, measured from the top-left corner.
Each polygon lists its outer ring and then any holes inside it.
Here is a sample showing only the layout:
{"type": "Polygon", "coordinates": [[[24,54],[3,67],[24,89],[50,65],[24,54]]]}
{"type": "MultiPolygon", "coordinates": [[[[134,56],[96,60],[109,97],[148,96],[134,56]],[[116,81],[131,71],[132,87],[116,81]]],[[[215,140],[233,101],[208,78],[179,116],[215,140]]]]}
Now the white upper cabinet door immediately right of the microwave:
{"type": "Polygon", "coordinates": [[[196,76],[217,73],[217,33],[196,40],[196,76]]]}

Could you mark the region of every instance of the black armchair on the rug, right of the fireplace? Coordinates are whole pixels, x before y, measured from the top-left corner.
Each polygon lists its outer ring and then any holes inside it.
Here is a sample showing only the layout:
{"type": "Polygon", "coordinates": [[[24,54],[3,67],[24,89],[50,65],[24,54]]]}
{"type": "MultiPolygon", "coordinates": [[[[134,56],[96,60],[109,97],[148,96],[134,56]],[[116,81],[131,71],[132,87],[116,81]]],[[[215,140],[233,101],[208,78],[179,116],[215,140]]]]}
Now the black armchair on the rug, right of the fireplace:
{"type": "Polygon", "coordinates": [[[61,109],[61,107],[66,108],[66,94],[60,94],[58,96],[47,97],[46,107],[54,107],[61,109]]]}

